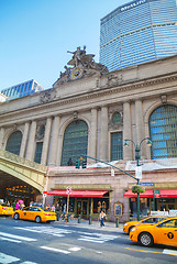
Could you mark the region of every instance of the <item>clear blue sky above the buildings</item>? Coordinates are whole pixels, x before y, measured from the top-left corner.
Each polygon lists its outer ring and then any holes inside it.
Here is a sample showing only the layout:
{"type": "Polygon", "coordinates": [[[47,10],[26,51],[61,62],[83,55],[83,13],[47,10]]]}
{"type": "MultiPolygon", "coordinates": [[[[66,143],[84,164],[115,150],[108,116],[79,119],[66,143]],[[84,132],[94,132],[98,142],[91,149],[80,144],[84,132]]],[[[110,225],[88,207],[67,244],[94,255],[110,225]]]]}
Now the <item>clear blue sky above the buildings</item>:
{"type": "Polygon", "coordinates": [[[130,0],[0,0],[0,91],[35,79],[44,89],[78,46],[99,62],[100,19],[130,0]]]}

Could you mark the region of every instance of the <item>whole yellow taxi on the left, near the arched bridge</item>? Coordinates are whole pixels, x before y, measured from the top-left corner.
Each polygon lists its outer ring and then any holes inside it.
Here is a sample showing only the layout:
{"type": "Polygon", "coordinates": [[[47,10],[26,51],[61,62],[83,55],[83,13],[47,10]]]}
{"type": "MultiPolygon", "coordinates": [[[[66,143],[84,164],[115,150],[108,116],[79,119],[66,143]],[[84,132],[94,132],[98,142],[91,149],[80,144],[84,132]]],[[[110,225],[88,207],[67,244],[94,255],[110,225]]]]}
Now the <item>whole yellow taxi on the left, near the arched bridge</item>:
{"type": "Polygon", "coordinates": [[[41,207],[25,207],[22,210],[15,210],[12,215],[14,220],[23,219],[40,222],[54,222],[56,213],[41,207]]]}

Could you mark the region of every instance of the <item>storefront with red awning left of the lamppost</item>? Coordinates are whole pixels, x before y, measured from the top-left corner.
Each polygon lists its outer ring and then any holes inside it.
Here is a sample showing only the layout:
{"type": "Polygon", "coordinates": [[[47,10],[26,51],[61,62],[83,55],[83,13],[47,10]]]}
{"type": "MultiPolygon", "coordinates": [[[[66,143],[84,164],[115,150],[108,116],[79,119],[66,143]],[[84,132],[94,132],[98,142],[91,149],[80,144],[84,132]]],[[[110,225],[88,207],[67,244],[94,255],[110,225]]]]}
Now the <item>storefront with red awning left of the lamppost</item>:
{"type": "MultiPolygon", "coordinates": [[[[63,212],[68,199],[66,190],[52,190],[47,195],[54,196],[56,210],[63,212]]],[[[109,208],[108,190],[71,190],[69,194],[69,213],[74,217],[88,219],[91,215],[92,219],[98,219],[101,209],[109,216],[109,208]]]]}

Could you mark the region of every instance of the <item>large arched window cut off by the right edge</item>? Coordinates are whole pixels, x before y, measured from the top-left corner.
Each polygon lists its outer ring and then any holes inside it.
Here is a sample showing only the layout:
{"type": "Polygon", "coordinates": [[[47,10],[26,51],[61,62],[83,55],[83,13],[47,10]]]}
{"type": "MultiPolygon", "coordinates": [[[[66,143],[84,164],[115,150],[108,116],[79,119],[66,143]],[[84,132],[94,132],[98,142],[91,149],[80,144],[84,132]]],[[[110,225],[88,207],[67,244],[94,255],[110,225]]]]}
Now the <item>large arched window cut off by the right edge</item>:
{"type": "Polygon", "coordinates": [[[177,157],[177,107],[157,108],[148,122],[152,160],[177,157]]]}

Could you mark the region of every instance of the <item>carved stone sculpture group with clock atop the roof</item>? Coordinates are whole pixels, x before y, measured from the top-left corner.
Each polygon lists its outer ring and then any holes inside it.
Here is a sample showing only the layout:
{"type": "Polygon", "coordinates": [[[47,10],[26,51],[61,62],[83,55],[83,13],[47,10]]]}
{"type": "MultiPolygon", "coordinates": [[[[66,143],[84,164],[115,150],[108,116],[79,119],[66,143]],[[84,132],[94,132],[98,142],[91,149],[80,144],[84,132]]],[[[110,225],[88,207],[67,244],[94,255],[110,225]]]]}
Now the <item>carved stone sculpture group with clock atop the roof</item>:
{"type": "Polygon", "coordinates": [[[108,68],[104,65],[93,61],[93,54],[86,54],[86,46],[84,46],[82,50],[79,46],[75,52],[68,51],[68,53],[73,54],[71,59],[67,63],[67,65],[71,67],[65,65],[65,72],[60,72],[59,78],[53,87],[56,85],[63,85],[67,81],[89,77],[97,73],[101,75],[108,73],[108,68]]]}

